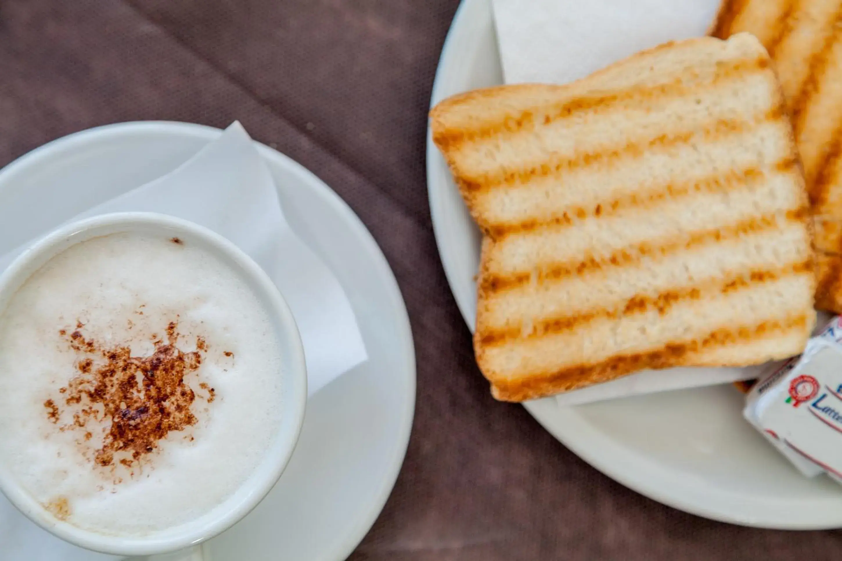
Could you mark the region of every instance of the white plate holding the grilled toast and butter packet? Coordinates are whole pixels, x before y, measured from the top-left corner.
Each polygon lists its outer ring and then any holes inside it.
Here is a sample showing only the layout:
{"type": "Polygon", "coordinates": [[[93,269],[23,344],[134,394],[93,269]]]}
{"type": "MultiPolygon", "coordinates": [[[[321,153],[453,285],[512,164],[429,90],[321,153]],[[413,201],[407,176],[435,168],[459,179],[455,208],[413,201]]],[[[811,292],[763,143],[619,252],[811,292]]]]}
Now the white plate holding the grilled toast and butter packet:
{"type": "MultiPolygon", "coordinates": [[[[502,82],[491,5],[464,0],[441,54],[432,103],[502,82]]],[[[479,233],[429,134],[427,181],[441,261],[473,328],[479,233]]],[[[576,407],[536,400],[525,407],[594,468],[667,505],[749,526],[842,526],[842,488],[791,468],[743,421],[742,402],[731,386],[717,386],[576,407]]]]}

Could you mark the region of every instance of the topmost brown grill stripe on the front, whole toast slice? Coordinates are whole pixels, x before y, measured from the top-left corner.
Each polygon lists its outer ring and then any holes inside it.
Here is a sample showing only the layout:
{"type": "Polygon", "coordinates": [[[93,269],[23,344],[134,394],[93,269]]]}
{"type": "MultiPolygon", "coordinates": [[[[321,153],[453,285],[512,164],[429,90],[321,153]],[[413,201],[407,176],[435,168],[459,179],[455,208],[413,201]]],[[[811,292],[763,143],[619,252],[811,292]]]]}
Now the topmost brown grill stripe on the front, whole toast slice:
{"type": "Polygon", "coordinates": [[[725,61],[707,77],[703,70],[688,67],[672,81],[654,86],[631,87],[621,92],[569,98],[548,105],[536,105],[504,119],[479,124],[476,128],[444,128],[434,135],[434,142],[442,150],[458,150],[462,143],[476,142],[497,135],[534,130],[537,124],[552,124],[577,114],[600,114],[619,108],[640,108],[663,102],[666,98],[680,98],[701,89],[718,87],[735,78],[744,79],[747,73],[764,71],[769,66],[765,57],[725,61]],[[707,78],[704,83],[696,83],[707,78]]]}

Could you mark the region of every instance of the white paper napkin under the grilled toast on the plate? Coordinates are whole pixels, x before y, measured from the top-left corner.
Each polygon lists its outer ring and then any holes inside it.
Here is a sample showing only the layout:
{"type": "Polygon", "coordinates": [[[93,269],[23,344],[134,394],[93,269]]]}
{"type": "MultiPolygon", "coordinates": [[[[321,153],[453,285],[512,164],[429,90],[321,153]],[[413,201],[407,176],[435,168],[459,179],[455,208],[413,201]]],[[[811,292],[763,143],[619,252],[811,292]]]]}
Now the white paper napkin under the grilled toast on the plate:
{"type": "MultiPolygon", "coordinates": [[[[506,83],[565,83],[639,50],[706,34],[720,0],[492,0],[506,83]]],[[[578,405],[755,378],[751,368],[645,371],[556,397],[578,405]]]]}

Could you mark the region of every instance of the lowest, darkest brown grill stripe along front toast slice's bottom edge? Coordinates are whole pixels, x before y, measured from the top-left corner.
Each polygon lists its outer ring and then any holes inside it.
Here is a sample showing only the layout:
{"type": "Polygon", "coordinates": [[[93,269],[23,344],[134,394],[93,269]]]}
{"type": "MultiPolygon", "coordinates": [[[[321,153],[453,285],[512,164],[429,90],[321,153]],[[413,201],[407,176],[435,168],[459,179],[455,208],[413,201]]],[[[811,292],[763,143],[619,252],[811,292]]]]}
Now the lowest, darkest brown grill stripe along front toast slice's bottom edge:
{"type": "Polygon", "coordinates": [[[553,393],[569,391],[590,384],[605,382],[641,368],[669,368],[686,362],[686,358],[714,347],[747,343],[770,336],[807,330],[813,318],[793,314],[781,319],[762,320],[754,325],[721,327],[705,336],[689,340],[669,341],[647,352],[615,355],[604,361],[577,364],[554,372],[524,378],[498,378],[492,392],[498,400],[524,401],[541,397],[551,389],[553,393]]]}

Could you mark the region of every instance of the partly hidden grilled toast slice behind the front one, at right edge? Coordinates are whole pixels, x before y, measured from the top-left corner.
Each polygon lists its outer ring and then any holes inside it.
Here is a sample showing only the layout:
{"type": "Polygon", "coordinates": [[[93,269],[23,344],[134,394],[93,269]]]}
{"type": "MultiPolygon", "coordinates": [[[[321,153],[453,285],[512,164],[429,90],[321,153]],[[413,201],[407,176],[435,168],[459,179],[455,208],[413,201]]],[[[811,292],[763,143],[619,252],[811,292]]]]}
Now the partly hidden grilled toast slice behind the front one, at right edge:
{"type": "Polygon", "coordinates": [[[842,2],[725,0],[712,34],[748,31],[769,50],[791,114],[813,213],[819,267],[816,305],[842,313],[842,2]],[[835,223],[835,224],[834,224],[835,223]]]}

